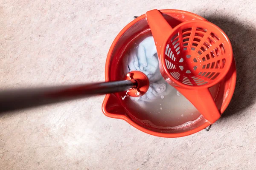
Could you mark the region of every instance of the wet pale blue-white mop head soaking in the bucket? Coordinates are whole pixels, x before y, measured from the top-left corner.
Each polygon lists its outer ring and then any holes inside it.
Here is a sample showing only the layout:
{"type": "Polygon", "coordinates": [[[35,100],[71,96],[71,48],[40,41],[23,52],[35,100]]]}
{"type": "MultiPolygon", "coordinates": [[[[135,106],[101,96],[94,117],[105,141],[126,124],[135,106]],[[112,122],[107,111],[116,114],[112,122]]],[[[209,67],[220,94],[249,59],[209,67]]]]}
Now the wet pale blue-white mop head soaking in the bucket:
{"type": "Polygon", "coordinates": [[[135,101],[152,102],[169,94],[168,84],[160,74],[157,49],[153,37],[145,38],[138,48],[125,56],[124,74],[130,71],[142,71],[149,79],[148,91],[141,97],[131,97],[135,101]]]}

